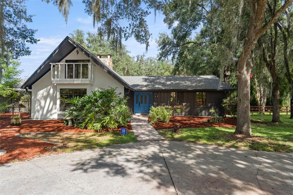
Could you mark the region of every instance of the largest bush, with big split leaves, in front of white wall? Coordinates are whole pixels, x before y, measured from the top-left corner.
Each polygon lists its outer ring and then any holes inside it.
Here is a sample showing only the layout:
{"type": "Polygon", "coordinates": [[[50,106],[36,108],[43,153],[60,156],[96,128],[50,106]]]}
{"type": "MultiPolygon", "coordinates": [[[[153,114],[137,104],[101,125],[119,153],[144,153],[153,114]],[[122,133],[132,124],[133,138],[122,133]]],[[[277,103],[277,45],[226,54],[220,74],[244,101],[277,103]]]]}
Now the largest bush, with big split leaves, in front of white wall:
{"type": "Polygon", "coordinates": [[[77,127],[95,131],[127,126],[131,118],[127,98],[120,97],[116,89],[98,89],[92,95],[67,100],[72,106],[63,115],[64,124],[70,118],[77,127]]]}

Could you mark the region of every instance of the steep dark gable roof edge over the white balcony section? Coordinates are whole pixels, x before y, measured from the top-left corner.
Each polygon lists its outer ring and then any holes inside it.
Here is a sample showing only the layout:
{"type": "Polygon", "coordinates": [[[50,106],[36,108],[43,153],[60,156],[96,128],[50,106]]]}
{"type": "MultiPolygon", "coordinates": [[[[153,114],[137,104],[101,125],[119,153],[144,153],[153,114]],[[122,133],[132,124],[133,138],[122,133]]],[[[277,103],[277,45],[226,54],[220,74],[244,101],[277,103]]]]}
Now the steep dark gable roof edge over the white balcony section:
{"type": "MultiPolygon", "coordinates": [[[[69,55],[74,49],[79,49],[87,57],[91,58],[98,66],[100,66],[105,72],[110,74],[115,80],[121,83],[124,87],[130,88],[129,85],[121,78],[121,76],[110,69],[103,61],[98,59],[94,54],[86,50],[80,44],[69,38],[68,36],[58,45],[58,47],[50,54],[49,57],[38,67],[38,69],[28,78],[28,80],[21,86],[23,89],[31,89],[32,85],[42,78],[47,72],[51,70],[50,63],[56,63],[64,59],[69,55]]],[[[132,88],[130,88],[132,89],[132,88]]]]}

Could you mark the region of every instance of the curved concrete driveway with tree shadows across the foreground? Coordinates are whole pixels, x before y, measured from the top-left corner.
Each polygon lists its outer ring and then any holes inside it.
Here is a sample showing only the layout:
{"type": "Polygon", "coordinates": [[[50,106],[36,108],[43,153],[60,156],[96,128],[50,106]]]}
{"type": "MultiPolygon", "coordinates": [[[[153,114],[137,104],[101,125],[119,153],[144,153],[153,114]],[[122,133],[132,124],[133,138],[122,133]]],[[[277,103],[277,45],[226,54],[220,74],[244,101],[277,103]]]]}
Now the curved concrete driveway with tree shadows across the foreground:
{"type": "Polygon", "coordinates": [[[185,142],[107,146],[0,166],[1,194],[292,194],[293,155],[185,142]],[[171,174],[171,175],[170,175],[171,174]]]}

